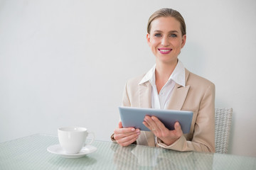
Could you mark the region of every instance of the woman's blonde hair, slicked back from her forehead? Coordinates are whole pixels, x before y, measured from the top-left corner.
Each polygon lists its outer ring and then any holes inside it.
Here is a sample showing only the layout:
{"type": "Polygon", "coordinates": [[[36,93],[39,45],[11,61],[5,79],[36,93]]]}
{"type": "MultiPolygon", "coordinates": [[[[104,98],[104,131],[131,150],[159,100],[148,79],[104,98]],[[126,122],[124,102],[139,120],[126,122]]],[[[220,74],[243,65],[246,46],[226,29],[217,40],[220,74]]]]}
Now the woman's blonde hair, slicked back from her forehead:
{"type": "Polygon", "coordinates": [[[154,21],[156,18],[160,17],[174,17],[176,20],[181,23],[181,33],[182,35],[186,35],[186,23],[184,18],[181,16],[181,13],[172,9],[172,8],[161,8],[158,11],[155,11],[150,17],[147,24],[147,33],[150,33],[151,30],[151,22],[154,21]]]}

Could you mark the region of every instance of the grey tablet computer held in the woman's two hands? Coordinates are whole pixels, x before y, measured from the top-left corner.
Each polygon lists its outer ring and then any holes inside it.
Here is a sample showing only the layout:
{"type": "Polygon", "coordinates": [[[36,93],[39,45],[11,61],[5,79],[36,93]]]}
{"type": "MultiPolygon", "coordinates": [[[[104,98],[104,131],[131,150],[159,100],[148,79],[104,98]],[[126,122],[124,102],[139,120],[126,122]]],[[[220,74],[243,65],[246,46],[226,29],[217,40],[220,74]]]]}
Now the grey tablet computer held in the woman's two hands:
{"type": "Polygon", "coordinates": [[[134,127],[140,130],[150,131],[143,125],[143,121],[145,115],[154,115],[169,130],[174,130],[174,123],[178,121],[184,134],[189,132],[193,118],[192,111],[174,111],[155,108],[119,107],[119,114],[124,128],[134,127]]]}

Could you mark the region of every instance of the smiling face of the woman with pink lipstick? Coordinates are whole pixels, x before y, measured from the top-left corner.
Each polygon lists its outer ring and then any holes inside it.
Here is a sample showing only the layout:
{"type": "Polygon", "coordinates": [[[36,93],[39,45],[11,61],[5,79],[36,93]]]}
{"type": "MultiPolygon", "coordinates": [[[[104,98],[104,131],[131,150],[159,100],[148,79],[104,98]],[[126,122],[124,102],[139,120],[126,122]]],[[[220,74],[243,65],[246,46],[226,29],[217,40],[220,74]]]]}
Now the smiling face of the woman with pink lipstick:
{"type": "Polygon", "coordinates": [[[181,34],[181,23],[174,17],[160,17],[151,22],[150,33],[146,35],[156,62],[176,63],[186,35],[181,34]]]}

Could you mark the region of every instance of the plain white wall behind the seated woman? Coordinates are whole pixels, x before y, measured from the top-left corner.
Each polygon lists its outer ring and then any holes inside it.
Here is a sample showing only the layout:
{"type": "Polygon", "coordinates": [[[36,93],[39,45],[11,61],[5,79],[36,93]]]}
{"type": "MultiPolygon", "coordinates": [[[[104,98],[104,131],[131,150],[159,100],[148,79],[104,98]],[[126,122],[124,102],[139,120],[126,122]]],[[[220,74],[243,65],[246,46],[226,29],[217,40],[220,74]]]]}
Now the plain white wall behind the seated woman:
{"type": "Polygon", "coordinates": [[[0,0],[0,142],[81,125],[110,140],[125,81],[154,56],[146,23],[180,11],[180,59],[232,107],[230,154],[256,156],[256,1],[0,0]]]}

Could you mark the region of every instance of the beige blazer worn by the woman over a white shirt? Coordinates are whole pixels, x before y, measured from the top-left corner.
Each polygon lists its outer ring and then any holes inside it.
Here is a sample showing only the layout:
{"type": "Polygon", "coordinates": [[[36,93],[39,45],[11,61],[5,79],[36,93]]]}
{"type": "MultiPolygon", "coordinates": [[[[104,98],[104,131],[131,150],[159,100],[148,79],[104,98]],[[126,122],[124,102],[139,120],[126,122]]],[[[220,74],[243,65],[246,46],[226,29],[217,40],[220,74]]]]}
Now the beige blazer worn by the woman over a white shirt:
{"type": "MultiPolygon", "coordinates": [[[[144,75],[127,81],[123,106],[151,108],[151,84],[146,81],[139,85],[143,77],[144,75]]],[[[190,132],[173,145],[167,146],[160,139],[157,139],[155,145],[154,134],[142,131],[137,145],[178,151],[215,152],[215,86],[212,82],[186,69],[186,86],[175,85],[167,109],[193,111],[190,132]]]]}

